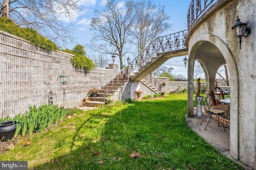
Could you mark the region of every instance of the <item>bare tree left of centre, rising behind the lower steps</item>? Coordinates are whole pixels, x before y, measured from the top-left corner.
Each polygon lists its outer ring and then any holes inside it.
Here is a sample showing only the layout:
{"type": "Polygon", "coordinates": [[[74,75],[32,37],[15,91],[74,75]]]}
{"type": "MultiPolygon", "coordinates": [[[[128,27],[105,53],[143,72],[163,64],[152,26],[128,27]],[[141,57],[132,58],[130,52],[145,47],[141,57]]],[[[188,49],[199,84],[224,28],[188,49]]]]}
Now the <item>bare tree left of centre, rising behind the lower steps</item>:
{"type": "Polygon", "coordinates": [[[94,10],[96,14],[92,17],[90,30],[94,36],[87,47],[99,53],[115,54],[120,59],[128,52],[128,38],[134,16],[132,16],[132,2],[107,0],[103,11],[94,10]],[[104,42],[99,44],[98,42],[104,42]]]}

